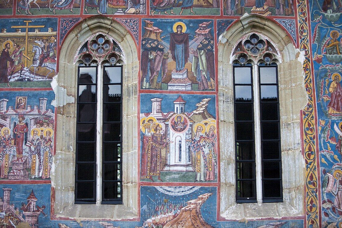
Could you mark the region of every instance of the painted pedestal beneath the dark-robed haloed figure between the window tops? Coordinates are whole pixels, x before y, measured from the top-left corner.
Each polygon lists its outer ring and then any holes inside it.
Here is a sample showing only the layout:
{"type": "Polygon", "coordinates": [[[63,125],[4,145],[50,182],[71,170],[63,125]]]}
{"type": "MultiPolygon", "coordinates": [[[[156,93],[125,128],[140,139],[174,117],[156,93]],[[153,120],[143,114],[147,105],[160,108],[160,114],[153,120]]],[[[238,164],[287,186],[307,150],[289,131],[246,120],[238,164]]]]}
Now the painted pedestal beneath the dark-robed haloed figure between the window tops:
{"type": "Polygon", "coordinates": [[[192,90],[192,82],[188,78],[188,69],[182,71],[173,69],[171,72],[171,81],[168,84],[168,90],[192,90]]]}

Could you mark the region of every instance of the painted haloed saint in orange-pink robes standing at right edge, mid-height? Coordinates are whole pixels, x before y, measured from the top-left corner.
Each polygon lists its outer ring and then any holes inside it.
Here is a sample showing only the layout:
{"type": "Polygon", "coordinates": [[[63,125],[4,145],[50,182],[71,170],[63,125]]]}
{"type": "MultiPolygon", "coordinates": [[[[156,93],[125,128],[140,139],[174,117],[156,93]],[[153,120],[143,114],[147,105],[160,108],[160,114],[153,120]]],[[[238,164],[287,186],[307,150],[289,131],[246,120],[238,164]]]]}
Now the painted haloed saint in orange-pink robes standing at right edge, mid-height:
{"type": "Polygon", "coordinates": [[[329,86],[330,102],[327,106],[329,115],[341,115],[342,114],[342,87],[341,87],[341,75],[334,73],[331,76],[332,82],[329,86]]]}

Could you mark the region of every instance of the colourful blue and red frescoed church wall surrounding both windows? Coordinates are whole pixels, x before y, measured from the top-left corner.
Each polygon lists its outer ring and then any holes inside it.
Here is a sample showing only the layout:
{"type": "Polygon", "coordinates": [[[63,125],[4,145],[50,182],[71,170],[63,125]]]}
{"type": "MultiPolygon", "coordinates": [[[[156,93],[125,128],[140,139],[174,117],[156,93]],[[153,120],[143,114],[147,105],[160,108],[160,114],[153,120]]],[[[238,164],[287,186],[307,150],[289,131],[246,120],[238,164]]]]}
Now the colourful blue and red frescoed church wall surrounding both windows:
{"type": "Polygon", "coordinates": [[[341,13],[341,2],[334,0],[0,1],[0,226],[340,227],[341,13]],[[217,126],[218,85],[225,78],[218,74],[218,43],[226,42],[221,34],[245,13],[278,24],[304,56],[308,105],[301,112],[306,161],[301,216],[237,221],[219,213],[227,200],[220,173],[227,170],[221,169],[225,161],[220,161],[218,138],[227,136],[217,126]],[[94,15],[122,24],[139,53],[135,166],[140,204],[139,216],[130,220],[54,215],[53,202],[60,199],[50,174],[55,172],[58,107],[52,105],[51,85],[58,77],[61,45],[68,45],[65,38],[94,15]],[[182,54],[173,47],[177,29],[186,37],[182,54]],[[150,164],[148,140],[158,146],[152,153],[156,164],[150,164]]]}

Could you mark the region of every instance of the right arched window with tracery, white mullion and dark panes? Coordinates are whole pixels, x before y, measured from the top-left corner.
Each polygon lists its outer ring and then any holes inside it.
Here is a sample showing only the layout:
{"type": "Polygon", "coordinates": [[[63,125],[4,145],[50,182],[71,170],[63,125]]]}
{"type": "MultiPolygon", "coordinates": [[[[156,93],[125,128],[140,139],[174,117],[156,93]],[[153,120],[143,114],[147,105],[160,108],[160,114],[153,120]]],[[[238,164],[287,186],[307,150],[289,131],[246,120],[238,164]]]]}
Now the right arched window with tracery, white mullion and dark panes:
{"type": "Polygon", "coordinates": [[[279,56],[271,42],[255,33],[233,51],[237,203],[256,203],[257,191],[262,191],[262,202],[282,202],[279,56]]]}

